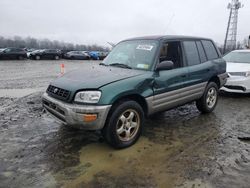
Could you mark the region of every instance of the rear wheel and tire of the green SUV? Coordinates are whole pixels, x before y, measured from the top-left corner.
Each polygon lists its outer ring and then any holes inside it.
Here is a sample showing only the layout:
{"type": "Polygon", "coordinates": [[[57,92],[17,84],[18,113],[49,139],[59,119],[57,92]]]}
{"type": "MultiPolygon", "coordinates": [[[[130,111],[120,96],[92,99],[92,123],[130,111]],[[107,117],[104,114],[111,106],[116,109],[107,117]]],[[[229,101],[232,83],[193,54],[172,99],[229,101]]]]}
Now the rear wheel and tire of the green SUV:
{"type": "Polygon", "coordinates": [[[214,82],[209,82],[203,96],[196,101],[198,110],[202,113],[212,112],[218,102],[218,86],[214,82]]]}

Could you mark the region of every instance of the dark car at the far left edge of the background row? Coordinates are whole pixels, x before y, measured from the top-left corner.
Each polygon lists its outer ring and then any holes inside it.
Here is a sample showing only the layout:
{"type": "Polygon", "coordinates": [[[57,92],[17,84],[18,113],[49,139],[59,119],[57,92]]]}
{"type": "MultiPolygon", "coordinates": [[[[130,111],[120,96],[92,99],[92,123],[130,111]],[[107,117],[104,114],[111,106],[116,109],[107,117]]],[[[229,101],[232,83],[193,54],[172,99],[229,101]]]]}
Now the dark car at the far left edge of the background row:
{"type": "Polygon", "coordinates": [[[26,59],[27,53],[22,48],[3,48],[0,49],[0,59],[26,59]]]}

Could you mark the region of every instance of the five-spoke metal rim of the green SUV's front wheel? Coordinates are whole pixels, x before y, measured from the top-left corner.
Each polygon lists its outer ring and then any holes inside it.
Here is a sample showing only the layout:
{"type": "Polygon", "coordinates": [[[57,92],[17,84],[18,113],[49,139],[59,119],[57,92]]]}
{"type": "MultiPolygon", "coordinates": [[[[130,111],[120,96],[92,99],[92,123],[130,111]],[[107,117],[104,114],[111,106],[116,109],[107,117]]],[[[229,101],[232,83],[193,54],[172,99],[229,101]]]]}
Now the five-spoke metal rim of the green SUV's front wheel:
{"type": "Polygon", "coordinates": [[[137,111],[129,109],[124,111],[116,124],[116,134],[121,141],[133,139],[140,127],[140,116],[137,111]]]}

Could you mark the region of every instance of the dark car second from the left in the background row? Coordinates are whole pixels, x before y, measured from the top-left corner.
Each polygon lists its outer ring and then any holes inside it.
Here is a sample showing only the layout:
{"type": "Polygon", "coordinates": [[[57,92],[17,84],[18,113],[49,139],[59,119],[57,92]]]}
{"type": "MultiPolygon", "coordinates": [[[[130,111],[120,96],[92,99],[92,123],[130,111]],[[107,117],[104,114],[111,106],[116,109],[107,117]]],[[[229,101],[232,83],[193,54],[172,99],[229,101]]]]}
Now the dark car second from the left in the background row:
{"type": "Polygon", "coordinates": [[[35,50],[30,53],[30,59],[40,60],[40,59],[55,59],[58,60],[62,57],[60,50],[44,49],[35,50]]]}

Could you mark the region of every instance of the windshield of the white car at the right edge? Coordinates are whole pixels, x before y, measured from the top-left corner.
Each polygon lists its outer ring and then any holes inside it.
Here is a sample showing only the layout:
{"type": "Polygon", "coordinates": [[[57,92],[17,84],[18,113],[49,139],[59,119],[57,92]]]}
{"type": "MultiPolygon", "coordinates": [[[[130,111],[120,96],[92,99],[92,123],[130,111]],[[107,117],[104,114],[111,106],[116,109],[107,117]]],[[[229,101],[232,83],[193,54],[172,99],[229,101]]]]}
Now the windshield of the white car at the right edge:
{"type": "Polygon", "coordinates": [[[233,63],[250,63],[250,51],[249,52],[230,52],[223,57],[227,62],[233,63]]]}

